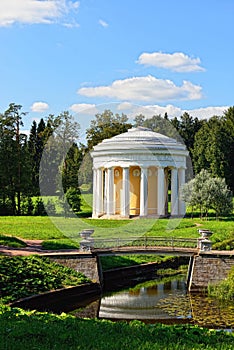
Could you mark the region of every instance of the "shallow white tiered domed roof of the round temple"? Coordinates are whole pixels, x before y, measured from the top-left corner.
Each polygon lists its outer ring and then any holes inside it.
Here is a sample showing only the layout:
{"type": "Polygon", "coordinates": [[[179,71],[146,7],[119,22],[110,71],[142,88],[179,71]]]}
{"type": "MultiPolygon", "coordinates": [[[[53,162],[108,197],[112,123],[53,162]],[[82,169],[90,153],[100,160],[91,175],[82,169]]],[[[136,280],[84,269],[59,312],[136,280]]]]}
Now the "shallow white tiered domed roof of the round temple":
{"type": "Polygon", "coordinates": [[[159,134],[151,129],[137,127],[129,129],[127,132],[105,139],[94,147],[95,151],[110,149],[139,149],[139,148],[175,148],[185,149],[185,146],[173,138],[159,134]]]}

